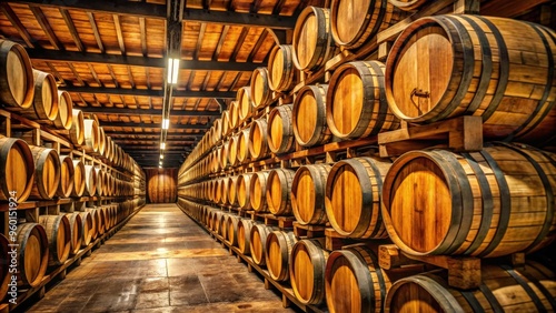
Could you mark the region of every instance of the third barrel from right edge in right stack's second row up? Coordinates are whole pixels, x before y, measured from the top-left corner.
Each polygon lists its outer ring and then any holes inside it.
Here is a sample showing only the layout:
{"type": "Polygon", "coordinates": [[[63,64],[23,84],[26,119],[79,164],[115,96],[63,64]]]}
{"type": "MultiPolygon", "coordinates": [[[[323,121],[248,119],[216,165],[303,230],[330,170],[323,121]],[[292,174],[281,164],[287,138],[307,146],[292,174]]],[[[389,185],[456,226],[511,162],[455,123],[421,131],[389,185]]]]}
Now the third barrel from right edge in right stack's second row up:
{"type": "Polygon", "coordinates": [[[302,224],[328,222],[325,208],[326,180],[330,164],[304,165],[296,171],[291,182],[291,209],[296,220],[302,224]]]}

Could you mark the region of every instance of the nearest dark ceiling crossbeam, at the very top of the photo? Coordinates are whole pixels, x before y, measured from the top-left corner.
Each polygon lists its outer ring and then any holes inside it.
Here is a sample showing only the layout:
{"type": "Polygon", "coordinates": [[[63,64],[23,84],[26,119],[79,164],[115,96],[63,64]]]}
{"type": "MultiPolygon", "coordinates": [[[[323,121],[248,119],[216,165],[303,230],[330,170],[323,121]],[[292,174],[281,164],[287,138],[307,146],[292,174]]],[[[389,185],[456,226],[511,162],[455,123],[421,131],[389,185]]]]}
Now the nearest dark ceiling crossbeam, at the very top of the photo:
{"type": "MultiPolygon", "coordinates": [[[[83,10],[120,16],[136,16],[149,19],[166,19],[167,7],[147,2],[107,1],[107,0],[18,0],[13,3],[26,3],[29,6],[63,8],[69,10],[83,10]]],[[[218,24],[234,24],[247,27],[269,27],[272,29],[294,29],[297,17],[284,17],[276,14],[241,13],[230,11],[208,11],[203,9],[186,8],[183,20],[195,22],[209,22],[218,24]]]]}

